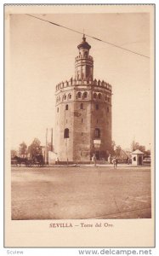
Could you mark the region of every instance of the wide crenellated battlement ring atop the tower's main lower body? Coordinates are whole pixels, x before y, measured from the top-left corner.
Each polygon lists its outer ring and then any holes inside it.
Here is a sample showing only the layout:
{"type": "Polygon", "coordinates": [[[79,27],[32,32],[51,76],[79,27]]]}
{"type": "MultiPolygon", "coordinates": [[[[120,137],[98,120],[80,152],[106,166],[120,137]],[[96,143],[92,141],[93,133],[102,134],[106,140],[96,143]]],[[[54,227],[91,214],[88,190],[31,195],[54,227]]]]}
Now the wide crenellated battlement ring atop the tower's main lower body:
{"type": "Polygon", "coordinates": [[[92,85],[92,86],[99,86],[101,88],[105,88],[106,90],[111,90],[111,84],[108,84],[104,80],[100,81],[97,79],[94,80],[77,80],[77,79],[70,79],[66,80],[65,82],[60,82],[60,84],[56,85],[56,91],[61,90],[66,87],[70,86],[77,86],[77,85],[92,85]]]}

